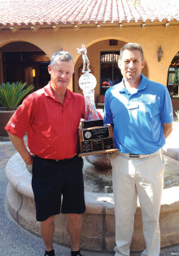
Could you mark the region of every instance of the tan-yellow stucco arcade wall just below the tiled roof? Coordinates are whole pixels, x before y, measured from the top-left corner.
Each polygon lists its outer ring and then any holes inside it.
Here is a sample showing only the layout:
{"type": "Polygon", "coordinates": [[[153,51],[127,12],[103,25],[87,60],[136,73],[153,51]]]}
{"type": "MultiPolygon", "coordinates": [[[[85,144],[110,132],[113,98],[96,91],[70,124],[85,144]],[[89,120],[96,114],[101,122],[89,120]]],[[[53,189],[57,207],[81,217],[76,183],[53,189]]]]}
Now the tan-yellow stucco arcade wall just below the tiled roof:
{"type": "MultiPolygon", "coordinates": [[[[158,26],[148,26],[145,29],[142,27],[113,27],[109,25],[108,28],[100,29],[80,28],[77,31],[75,29],[59,29],[56,32],[53,29],[39,29],[37,32],[31,30],[18,30],[15,33],[11,33],[9,30],[0,31],[0,47],[15,41],[31,42],[35,46],[38,46],[41,51],[44,51],[49,57],[59,51],[61,48],[65,51],[69,51],[74,57],[76,66],[82,64],[81,56],[77,54],[76,48],[81,47],[81,44],[85,44],[88,48],[88,56],[91,66],[94,68],[94,76],[99,77],[100,71],[100,58],[99,51],[108,50],[109,46],[103,45],[103,40],[116,39],[121,42],[139,42],[142,44],[146,64],[148,68],[148,77],[156,82],[161,82],[165,86],[167,85],[168,66],[179,51],[179,27],[177,25],[171,25],[167,28],[160,24],[158,26]],[[97,43],[100,42],[100,43],[97,43]],[[159,46],[162,46],[164,51],[161,62],[158,62],[157,51],[159,46]],[[80,58],[80,60],[78,60],[80,58]]],[[[110,50],[120,50],[120,46],[110,46],[110,50]]],[[[1,56],[1,55],[0,55],[1,56]]],[[[1,61],[1,57],[0,57],[1,61]]],[[[0,64],[2,68],[2,64],[0,64]]],[[[2,69],[0,70],[0,79],[2,80],[2,69]]],[[[75,74],[75,88],[76,85],[75,74]]],[[[2,81],[0,81],[2,82],[2,81]]],[[[72,90],[72,82],[69,85],[72,90]]],[[[76,89],[78,90],[78,89],[76,89]]],[[[96,94],[99,92],[99,85],[96,88],[96,94]]]]}

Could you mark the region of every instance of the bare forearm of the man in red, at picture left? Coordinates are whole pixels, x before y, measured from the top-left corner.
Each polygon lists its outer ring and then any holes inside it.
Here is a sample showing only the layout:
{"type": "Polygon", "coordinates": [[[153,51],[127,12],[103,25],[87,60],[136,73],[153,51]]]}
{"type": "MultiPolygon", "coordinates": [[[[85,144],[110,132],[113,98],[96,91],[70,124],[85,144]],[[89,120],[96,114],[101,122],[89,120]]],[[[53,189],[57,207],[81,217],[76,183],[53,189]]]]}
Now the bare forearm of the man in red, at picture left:
{"type": "Polygon", "coordinates": [[[26,148],[24,143],[24,138],[17,137],[8,132],[8,135],[11,139],[11,143],[14,145],[17,152],[20,153],[20,156],[23,158],[24,162],[32,166],[33,165],[33,156],[28,152],[28,148],[26,148]]]}

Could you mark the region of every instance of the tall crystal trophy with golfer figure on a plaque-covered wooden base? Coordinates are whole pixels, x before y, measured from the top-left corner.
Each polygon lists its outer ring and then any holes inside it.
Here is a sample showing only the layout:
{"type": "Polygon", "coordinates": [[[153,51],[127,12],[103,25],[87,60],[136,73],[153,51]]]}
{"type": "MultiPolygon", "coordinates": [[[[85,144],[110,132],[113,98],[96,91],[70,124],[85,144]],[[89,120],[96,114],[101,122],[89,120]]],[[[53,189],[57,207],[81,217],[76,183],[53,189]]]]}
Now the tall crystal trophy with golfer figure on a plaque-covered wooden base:
{"type": "Polygon", "coordinates": [[[88,156],[117,151],[114,148],[113,132],[110,125],[104,125],[103,119],[98,117],[94,103],[94,88],[97,84],[96,78],[90,72],[89,59],[85,45],[77,48],[78,54],[82,54],[83,69],[79,79],[79,86],[85,97],[85,120],[81,121],[79,127],[80,153],[79,156],[88,156]]]}

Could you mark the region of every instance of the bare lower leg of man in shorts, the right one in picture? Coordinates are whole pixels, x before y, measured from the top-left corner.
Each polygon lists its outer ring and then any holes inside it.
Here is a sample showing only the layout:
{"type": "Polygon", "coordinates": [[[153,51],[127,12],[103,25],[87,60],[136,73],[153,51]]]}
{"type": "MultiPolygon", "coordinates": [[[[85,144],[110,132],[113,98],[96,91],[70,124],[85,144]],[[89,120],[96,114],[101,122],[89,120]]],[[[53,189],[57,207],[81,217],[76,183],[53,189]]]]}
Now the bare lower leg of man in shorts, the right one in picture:
{"type": "Polygon", "coordinates": [[[81,239],[81,214],[68,214],[67,230],[72,242],[72,250],[79,250],[81,239]]]}

